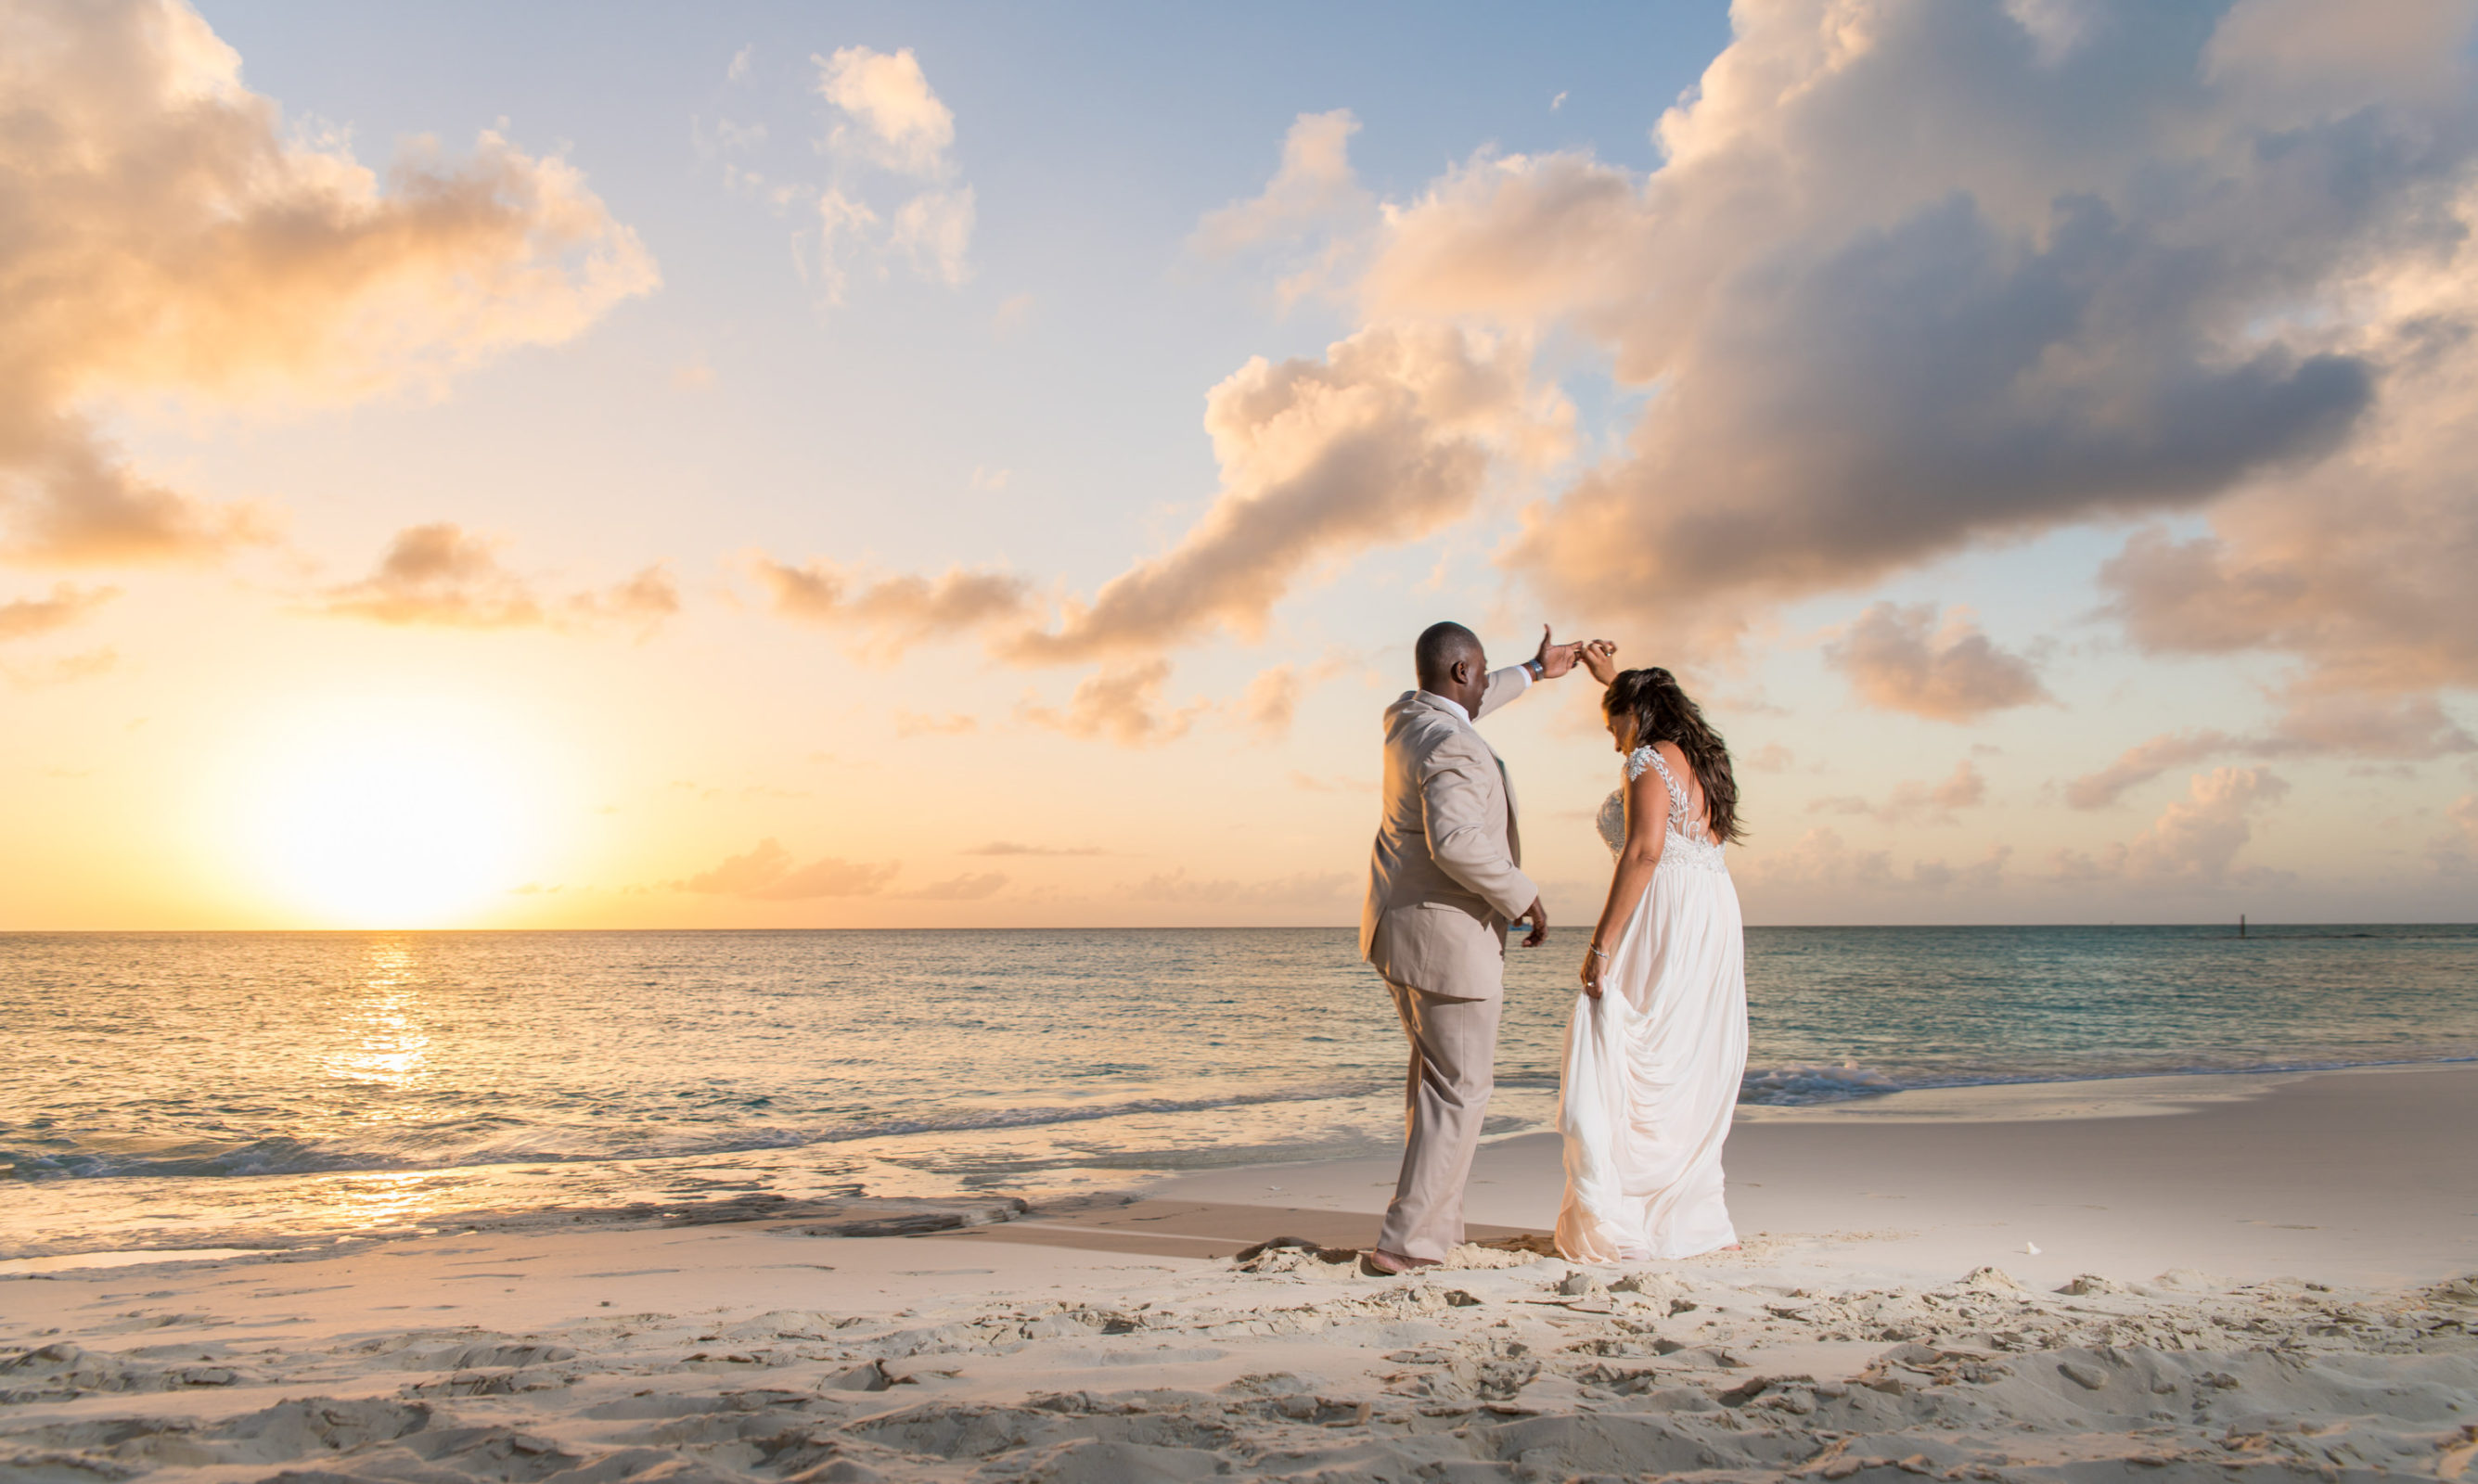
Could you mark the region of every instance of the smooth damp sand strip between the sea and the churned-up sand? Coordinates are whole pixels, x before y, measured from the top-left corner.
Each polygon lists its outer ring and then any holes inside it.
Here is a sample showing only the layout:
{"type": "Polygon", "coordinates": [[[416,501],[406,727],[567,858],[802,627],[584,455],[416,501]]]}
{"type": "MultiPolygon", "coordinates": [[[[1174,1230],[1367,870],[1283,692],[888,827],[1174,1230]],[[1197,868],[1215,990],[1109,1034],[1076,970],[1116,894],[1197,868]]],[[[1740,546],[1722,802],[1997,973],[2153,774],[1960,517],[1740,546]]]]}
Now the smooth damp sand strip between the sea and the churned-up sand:
{"type": "MultiPolygon", "coordinates": [[[[1742,1107],[1725,1164],[1749,1251],[1762,1241],[1764,1261],[1856,1264],[1896,1281],[1997,1264],[2042,1286],[2181,1266],[2349,1283],[2478,1271],[2471,1063],[1903,1098],[1915,1102],[1742,1107]]],[[[1142,1197],[1279,1197],[1373,1239],[1395,1167],[1385,1154],[1202,1172],[1142,1197]]],[[[1556,1135],[1512,1135],[1482,1147],[1464,1211],[1541,1231],[1561,1189],[1556,1135]]]]}

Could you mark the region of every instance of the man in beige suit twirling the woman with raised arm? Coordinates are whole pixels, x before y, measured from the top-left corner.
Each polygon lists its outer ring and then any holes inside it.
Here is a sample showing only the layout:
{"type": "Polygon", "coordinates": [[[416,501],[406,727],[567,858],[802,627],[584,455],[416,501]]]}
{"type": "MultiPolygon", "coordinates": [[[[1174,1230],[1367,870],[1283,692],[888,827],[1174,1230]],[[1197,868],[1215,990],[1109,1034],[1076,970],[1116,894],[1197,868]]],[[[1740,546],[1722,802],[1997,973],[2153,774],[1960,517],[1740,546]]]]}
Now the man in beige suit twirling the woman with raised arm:
{"type": "Polygon", "coordinates": [[[1410,1038],[1403,1177],[1368,1261],[1388,1273],[1445,1259],[1462,1241],[1462,1187],[1497,1085],[1497,1011],[1507,927],[1549,936],[1539,887],[1524,875],[1514,785],[1474,721],[1536,681],[1574,669],[1576,644],[1551,644],[1489,674],[1462,624],[1420,634],[1420,689],[1385,709],[1385,815],[1360,912],[1360,956],[1385,976],[1410,1038]]]}

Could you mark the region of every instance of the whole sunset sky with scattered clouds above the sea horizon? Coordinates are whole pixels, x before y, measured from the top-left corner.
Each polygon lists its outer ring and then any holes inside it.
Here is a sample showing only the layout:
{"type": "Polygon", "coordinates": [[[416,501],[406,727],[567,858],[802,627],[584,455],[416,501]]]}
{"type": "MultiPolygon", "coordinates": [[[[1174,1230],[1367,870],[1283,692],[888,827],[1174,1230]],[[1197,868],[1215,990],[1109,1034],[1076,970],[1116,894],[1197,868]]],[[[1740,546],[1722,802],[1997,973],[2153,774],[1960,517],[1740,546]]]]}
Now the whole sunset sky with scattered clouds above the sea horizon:
{"type": "Polygon", "coordinates": [[[0,0],[0,929],[2468,919],[2471,22],[0,0]]]}

